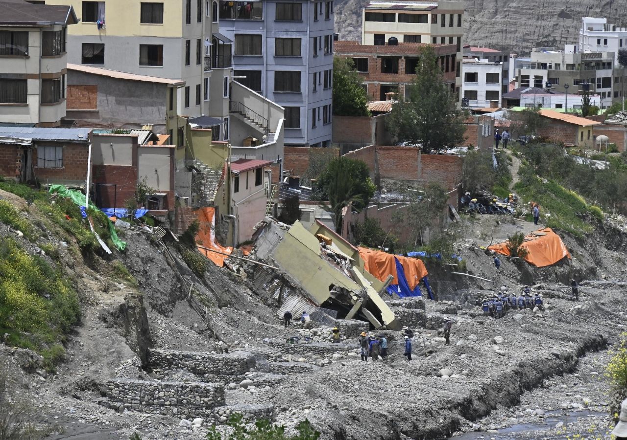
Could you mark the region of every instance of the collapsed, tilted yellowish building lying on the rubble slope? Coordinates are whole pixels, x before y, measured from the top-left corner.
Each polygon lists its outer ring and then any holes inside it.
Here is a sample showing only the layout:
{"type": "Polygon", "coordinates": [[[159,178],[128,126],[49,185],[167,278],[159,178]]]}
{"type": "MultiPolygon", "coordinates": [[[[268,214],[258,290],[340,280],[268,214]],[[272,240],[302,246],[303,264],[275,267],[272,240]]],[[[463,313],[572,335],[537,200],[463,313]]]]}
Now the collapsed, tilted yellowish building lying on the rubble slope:
{"type": "Polygon", "coordinates": [[[381,281],[367,272],[359,249],[315,222],[307,230],[267,218],[255,233],[255,257],[277,270],[256,266],[253,285],[278,306],[277,315],[307,312],[313,319],[361,319],[375,329],[398,330],[401,324],[381,295],[393,275],[381,281]]]}

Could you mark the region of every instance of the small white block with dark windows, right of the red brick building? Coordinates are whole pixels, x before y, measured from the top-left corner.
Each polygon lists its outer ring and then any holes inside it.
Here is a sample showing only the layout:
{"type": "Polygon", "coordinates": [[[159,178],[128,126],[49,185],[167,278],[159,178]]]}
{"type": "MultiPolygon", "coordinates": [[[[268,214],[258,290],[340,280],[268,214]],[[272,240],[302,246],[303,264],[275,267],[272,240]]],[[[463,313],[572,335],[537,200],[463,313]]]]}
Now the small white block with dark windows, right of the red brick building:
{"type": "Polygon", "coordinates": [[[463,104],[470,108],[500,107],[503,94],[503,63],[483,58],[464,58],[461,63],[463,104]]]}

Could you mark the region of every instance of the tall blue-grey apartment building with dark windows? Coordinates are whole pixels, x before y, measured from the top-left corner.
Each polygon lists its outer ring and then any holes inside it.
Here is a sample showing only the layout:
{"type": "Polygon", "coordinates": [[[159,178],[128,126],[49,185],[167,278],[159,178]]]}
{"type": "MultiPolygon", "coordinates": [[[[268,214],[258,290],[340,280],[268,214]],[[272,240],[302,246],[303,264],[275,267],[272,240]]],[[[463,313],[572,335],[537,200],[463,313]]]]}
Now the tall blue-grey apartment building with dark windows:
{"type": "MultiPolygon", "coordinates": [[[[214,2],[216,3],[216,2],[214,2]]],[[[285,145],[329,146],[333,1],[219,1],[234,80],[285,108],[285,145]]]]}

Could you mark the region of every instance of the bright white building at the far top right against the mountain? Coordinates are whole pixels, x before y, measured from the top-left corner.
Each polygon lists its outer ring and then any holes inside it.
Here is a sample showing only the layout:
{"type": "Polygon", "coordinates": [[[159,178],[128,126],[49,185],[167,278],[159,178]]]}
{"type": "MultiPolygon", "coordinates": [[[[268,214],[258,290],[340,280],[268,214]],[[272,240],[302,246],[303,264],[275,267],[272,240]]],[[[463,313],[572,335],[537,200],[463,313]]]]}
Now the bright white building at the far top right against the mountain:
{"type": "Polygon", "coordinates": [[[618,51],[627,49],[627,28],[608,24],[606,18],[584,17],[579,29],[579,48],[587,52],[613,52],[618,66],[618,51]]]}

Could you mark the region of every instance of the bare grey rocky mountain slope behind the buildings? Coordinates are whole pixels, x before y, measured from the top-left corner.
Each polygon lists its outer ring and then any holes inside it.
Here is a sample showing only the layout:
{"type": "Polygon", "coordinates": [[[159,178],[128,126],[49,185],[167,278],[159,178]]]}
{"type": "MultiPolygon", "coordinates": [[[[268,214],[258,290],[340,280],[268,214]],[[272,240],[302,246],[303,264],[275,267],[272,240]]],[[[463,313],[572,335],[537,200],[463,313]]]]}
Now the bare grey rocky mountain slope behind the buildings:
{"type": "MultiPolygon", "coordinates": [[[[361,39],[361,8],[367,0],[336,0],[340,39],[361,39]]],[[[466,44],[523,55],[532,47],[562,46],[579,39],[581,18],[606,17],[623,24],[627,2],[617,0],[466,0],[466,44]]]]}

